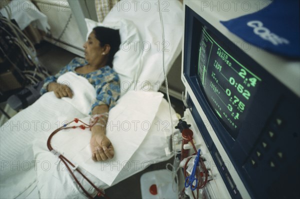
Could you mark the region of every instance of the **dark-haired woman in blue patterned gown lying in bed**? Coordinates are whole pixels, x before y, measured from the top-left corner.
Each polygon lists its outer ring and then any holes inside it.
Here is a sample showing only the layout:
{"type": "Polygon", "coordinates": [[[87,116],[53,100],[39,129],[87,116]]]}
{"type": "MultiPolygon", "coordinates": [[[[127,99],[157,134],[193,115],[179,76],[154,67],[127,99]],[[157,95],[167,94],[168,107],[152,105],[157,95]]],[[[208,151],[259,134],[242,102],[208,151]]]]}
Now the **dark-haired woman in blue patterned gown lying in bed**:
{"type": "Polygon", "coordinates": [[[65,72],[72,71],[85,77],[96,90],[96,99],[91,106],[91,120],[101,116],[101,120],[92,126],[90,148],[92,160],[102,161],[111,159],[114,155],[113,146],[105,136],[107,113],[120,95],[119,78],[111,68],[113,55],[118,51],[120,36],[118,30],[107,27],[95,27],[84,43],[83,58],[74,58],[56,75],[47,77],[41,88],[41,94],[53,91],[57,98],[72,98],[71,89],[59,82],[57,78],[65,72]]]}

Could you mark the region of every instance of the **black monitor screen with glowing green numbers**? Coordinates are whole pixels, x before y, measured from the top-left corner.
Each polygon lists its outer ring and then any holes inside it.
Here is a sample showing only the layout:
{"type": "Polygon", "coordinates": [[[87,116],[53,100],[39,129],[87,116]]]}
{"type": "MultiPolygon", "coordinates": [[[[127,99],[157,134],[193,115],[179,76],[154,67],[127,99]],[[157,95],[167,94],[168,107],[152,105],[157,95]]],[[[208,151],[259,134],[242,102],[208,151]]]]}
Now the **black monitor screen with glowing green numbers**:
{"type": "Polygon", "coordinates": [[[262,79],[238,60],[231,44],[220,41],[206,26],[199,32],[196,74],[218,120],[235,139],[262,79]]]}

